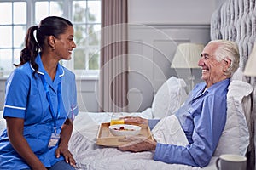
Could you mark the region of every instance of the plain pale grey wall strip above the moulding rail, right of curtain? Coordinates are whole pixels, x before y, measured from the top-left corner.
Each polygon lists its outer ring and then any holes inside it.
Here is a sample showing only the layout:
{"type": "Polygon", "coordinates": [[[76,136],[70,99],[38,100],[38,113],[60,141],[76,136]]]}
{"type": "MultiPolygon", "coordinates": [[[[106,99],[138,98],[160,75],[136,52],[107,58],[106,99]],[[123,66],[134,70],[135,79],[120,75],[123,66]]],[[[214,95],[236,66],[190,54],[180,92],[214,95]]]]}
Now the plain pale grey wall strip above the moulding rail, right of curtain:
{"type": "Polygon", "coordinates": [[[220,0],[128,0],[129,23],[209,24],[220,0]]]}

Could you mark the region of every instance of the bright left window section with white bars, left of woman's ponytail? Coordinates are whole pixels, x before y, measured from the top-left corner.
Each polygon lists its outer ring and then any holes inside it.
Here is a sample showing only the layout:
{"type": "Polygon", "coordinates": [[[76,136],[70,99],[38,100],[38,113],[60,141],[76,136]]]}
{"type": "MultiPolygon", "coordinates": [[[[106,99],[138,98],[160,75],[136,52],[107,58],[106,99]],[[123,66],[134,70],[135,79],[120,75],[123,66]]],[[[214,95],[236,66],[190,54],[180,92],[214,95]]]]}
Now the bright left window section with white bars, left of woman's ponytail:
{"type": "Polygon", "coordinates": [[[0,16],[0,76],[3,76],[20,60],[26,34],[26,2],[1,2],[0,16]]]}

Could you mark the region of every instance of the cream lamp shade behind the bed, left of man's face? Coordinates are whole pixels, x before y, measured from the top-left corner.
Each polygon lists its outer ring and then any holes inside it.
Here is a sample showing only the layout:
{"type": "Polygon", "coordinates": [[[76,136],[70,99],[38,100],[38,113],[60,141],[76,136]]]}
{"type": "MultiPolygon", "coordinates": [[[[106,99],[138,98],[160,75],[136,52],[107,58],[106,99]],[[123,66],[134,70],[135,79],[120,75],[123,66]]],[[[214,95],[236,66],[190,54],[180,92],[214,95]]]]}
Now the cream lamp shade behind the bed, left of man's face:
{"type": "Polygon", "coordinates": [[[199,68],[197,64],[203,48],[204,45],[199,43],[179,44],[171,68],[199,68]]]}

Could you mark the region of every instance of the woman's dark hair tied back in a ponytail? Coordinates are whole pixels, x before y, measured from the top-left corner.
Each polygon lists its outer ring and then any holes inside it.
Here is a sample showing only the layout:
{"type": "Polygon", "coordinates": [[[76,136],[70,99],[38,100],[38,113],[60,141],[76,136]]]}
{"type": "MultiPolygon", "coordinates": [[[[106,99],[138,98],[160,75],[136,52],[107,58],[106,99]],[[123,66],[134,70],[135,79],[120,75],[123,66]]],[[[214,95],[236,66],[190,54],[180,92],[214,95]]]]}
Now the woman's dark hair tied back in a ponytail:
{"type": "Polygon", "coordinates": [[[64,18],[58,16],[49,16],[44,20],[41,20],[39,26],[31,26],[25,37],[25,48],[20,52],[20,64],[15,66],[24,65],[29,61],[35,70],[38,72],[38,65],[35,59],[38,55],[39,50],[44,50],[45,39],[49,36],[54,36],[58,38],[61,34],[65,33],[68,26],[73,26],[73,24],[64,18]],[[34,31],[36,31],[36,37],[34,37],[34,31]]]}

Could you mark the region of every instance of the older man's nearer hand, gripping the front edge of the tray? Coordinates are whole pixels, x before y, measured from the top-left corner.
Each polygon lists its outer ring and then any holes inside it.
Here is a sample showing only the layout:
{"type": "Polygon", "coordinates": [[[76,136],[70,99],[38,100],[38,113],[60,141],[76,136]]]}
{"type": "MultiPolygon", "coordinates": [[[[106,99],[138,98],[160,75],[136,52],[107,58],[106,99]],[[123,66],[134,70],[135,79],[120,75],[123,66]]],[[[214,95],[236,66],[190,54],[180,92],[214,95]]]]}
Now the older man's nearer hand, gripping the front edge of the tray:
{"type": "Polygon", "coordinates": [[[147,150],[155,150],[156,142],[152,139],[148,139],[146,137],[140,136],[129,136],[122,139],[122,141],[129,142],[128,144],[124,144],[119,146],[119,150],[130,150],[133,152],[139,151],[147,151],[147,150]]]}

